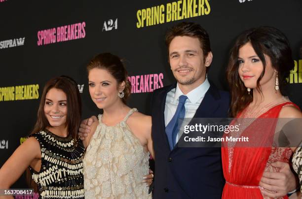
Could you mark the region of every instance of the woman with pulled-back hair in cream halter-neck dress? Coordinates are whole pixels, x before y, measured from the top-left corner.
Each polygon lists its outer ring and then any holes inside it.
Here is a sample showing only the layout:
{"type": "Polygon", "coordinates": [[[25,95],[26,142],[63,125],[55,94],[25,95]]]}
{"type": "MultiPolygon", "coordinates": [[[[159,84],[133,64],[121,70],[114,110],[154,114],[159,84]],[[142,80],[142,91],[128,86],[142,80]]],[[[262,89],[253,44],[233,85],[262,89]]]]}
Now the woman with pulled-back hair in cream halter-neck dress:
{"type": "Polygon", "coordinates": [[[153,154],[151,117],[125,104],[130,84],[117,56],[96,56],[87,71],[91,99],[104,113],[84,141],[85,198],[151,199],[143,182],[153,154]]]}

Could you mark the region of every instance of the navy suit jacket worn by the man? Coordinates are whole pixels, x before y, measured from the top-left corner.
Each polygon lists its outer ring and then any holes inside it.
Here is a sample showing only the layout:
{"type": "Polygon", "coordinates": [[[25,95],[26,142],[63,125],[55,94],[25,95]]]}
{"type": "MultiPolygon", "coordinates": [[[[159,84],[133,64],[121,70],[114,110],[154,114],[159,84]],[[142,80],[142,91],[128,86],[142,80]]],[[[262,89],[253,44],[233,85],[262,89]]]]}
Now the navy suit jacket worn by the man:
{"type": "MultiPolygon", "coordinates": [[[[167,93],[175,87],[176,84],[155,90],[151,102],[153,199],[221,199],[225,184],[221,148],[169,148],[164,109],[167,93]]],[[[211,84],[194,118],[227,117],[228,108],[229,94],[211,84]]]]}

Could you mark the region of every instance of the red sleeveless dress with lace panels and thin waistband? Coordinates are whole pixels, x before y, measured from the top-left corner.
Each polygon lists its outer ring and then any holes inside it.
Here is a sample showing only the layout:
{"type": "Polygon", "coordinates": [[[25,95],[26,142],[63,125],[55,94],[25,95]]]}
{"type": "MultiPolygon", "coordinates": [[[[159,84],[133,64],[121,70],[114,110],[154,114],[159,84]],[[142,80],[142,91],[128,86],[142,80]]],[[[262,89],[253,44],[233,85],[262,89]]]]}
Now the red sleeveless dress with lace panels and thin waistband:
{"type": "MultiPolygon", "coordinates": [[[[278,172],[279,169],[270,166],[269,163],[276,161],[289,163],[293,154],[291,148],[274,147],[276,144],[273,141],[281,108],[289,104],[297,106],[293,102],[277,104],[258,117],[271,118],[270,122],[265,123],[256,118],[240,133],[240,136],[253,136],[255,130],[263,132],[261,139],[258,139],[258,147],[245,147],[244,145],[238,147],[240,143],[232,145],[229,142],[222,142],[222,164],[226,179],[223,199],[269,199],[260,192],[260,189],[263,189],[259,186],[263,172],[278,172]]],[[[237,117],[239,116],[240,114],[237,117]]],[[[280,199],[288,199],[288,197],[284,196],[280,199]]]]}

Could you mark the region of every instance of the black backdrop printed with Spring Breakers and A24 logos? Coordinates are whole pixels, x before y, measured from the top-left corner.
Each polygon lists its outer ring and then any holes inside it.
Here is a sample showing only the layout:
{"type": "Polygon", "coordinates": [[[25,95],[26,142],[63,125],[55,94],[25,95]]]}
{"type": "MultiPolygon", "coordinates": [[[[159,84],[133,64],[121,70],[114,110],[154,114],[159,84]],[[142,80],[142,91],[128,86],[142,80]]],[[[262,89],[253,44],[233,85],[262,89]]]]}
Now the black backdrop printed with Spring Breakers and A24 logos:
{"type": "MultiPolygon", "coordinates": [[[[83,118],[100,113],[89,97],[85,70],[98,53],[124,60],[132,85],[128,104],[149,114],[151,92],[174,82],[164,34],[182,21],[208,31],[214,55],[208,78],[223,90],[236,36],[264,25],[280,29],[295,60],[289,97],[302,107],[301,10],[301,0],[0,0],[0,166],[32,130],[50,78],[73,77],[83,118]]],[[[13,185],[25,187],[24,177],[13,185]]]]}

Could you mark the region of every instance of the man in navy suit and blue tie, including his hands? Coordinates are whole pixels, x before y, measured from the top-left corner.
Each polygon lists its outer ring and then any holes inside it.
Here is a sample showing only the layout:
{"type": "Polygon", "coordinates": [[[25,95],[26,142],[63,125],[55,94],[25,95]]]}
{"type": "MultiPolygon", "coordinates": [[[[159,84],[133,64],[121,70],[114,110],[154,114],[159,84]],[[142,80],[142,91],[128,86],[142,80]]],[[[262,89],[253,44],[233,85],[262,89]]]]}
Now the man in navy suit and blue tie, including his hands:
{"type": "MultiPolygon", "coordinates": [[[[227,117],[229,95],[206,76],[212,62],[208,33],[198,24],[180,23],[166,34],[171,70],[177,83],[153,92],[152,140],[155,152],[153,199],[221,199],[224,187],[220,148],[180,147],[175,133],[177,118],[227,117]]],[[[92,117],[81,123],[84,139],[92,117]]],[[[288,164],[280,173],[265,173],[260,186],[284,196],[297,186],[288,164]],[[281,172],[282,171],[282,172],[281,172]],[[282,179],[282,180],[280,180],[282,179]]],[[[282,167],[281,167],[282,166],[282,167]]]]}

